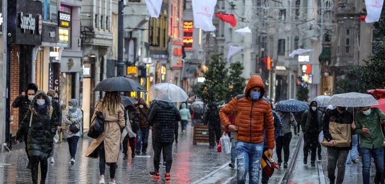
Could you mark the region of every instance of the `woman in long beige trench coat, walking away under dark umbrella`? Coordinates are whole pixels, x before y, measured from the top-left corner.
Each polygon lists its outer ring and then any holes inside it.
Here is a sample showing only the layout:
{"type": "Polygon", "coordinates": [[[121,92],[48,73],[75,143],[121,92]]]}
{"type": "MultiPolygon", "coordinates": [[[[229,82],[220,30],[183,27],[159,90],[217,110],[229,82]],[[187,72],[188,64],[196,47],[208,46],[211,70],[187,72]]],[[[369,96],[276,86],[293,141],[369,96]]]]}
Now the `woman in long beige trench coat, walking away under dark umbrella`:
{"type": "Polygon", "coordinates": [[[104,116],[104,133],[92,141],[85,152],[85,156],[97,158],[99,156],[100,180],[104,184],[105,163],[110,163],[110,184],[115,184],[116,161],[118,160],[120,145],[120,129],[124,127],[124,107],[120,104],[119,92],[105,92],[104,97],[96,104],[96,112],[104,116]]]}

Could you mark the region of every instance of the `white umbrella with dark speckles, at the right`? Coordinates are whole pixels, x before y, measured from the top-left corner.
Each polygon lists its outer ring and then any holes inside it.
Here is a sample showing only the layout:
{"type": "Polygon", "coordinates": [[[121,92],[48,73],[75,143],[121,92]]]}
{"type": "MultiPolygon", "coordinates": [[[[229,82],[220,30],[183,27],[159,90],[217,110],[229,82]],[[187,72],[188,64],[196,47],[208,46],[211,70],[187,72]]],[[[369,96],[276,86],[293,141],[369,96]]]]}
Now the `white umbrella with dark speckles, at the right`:
{"type": "Polygon", "coordinates": [[[333,95],[328,104],[340,107],[368,107],[378,105],[378,101],[370,94],[351,92],[333,95]]]}

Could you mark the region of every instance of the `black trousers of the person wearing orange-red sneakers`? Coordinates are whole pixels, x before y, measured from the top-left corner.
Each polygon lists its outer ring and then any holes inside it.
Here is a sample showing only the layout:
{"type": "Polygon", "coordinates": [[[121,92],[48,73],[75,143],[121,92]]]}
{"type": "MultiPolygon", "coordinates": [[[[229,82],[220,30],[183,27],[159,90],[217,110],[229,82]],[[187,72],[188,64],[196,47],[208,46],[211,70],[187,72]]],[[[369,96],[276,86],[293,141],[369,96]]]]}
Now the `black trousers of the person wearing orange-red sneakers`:
{"type": "Polygon", "coordinates": [[[163,161],[166,162],[166,173],[169,173],[171,166],[173,165],[173,142],[159,142],[153,140],[153,149],[155,171],[159,171],[160,154],[163,150],[163,158],[166,158],[165,160],[163,159],[163,161]]]}

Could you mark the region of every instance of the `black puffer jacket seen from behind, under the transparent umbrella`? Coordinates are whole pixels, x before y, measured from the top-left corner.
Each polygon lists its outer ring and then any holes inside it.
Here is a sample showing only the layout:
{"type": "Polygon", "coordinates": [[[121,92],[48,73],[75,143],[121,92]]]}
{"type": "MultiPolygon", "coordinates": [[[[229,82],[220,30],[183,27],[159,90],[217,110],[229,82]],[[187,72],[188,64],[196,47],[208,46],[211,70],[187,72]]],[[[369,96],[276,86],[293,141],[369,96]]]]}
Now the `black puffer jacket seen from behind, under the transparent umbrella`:
{"type": "Polygon", "coordinates": [[[153,127],[153,141],[174,142],[175,122],[181,120],[179,110],[166,101],[156,101],[148,115],[149,126],[153,127]]]}

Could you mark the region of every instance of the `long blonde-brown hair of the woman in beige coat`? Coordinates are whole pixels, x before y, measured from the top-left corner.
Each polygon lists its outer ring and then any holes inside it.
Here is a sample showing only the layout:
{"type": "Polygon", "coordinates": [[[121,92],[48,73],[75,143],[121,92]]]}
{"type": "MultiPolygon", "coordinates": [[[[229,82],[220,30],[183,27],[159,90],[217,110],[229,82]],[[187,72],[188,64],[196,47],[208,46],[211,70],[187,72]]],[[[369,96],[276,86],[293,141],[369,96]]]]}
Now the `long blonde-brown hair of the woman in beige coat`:
{"type": "Polygon", "coordinates": [[[117,114],[119,103],[120,94],[118,91],[105,92],[103,100],[101,101],[101,109],[110,115],[117,114]]]}

